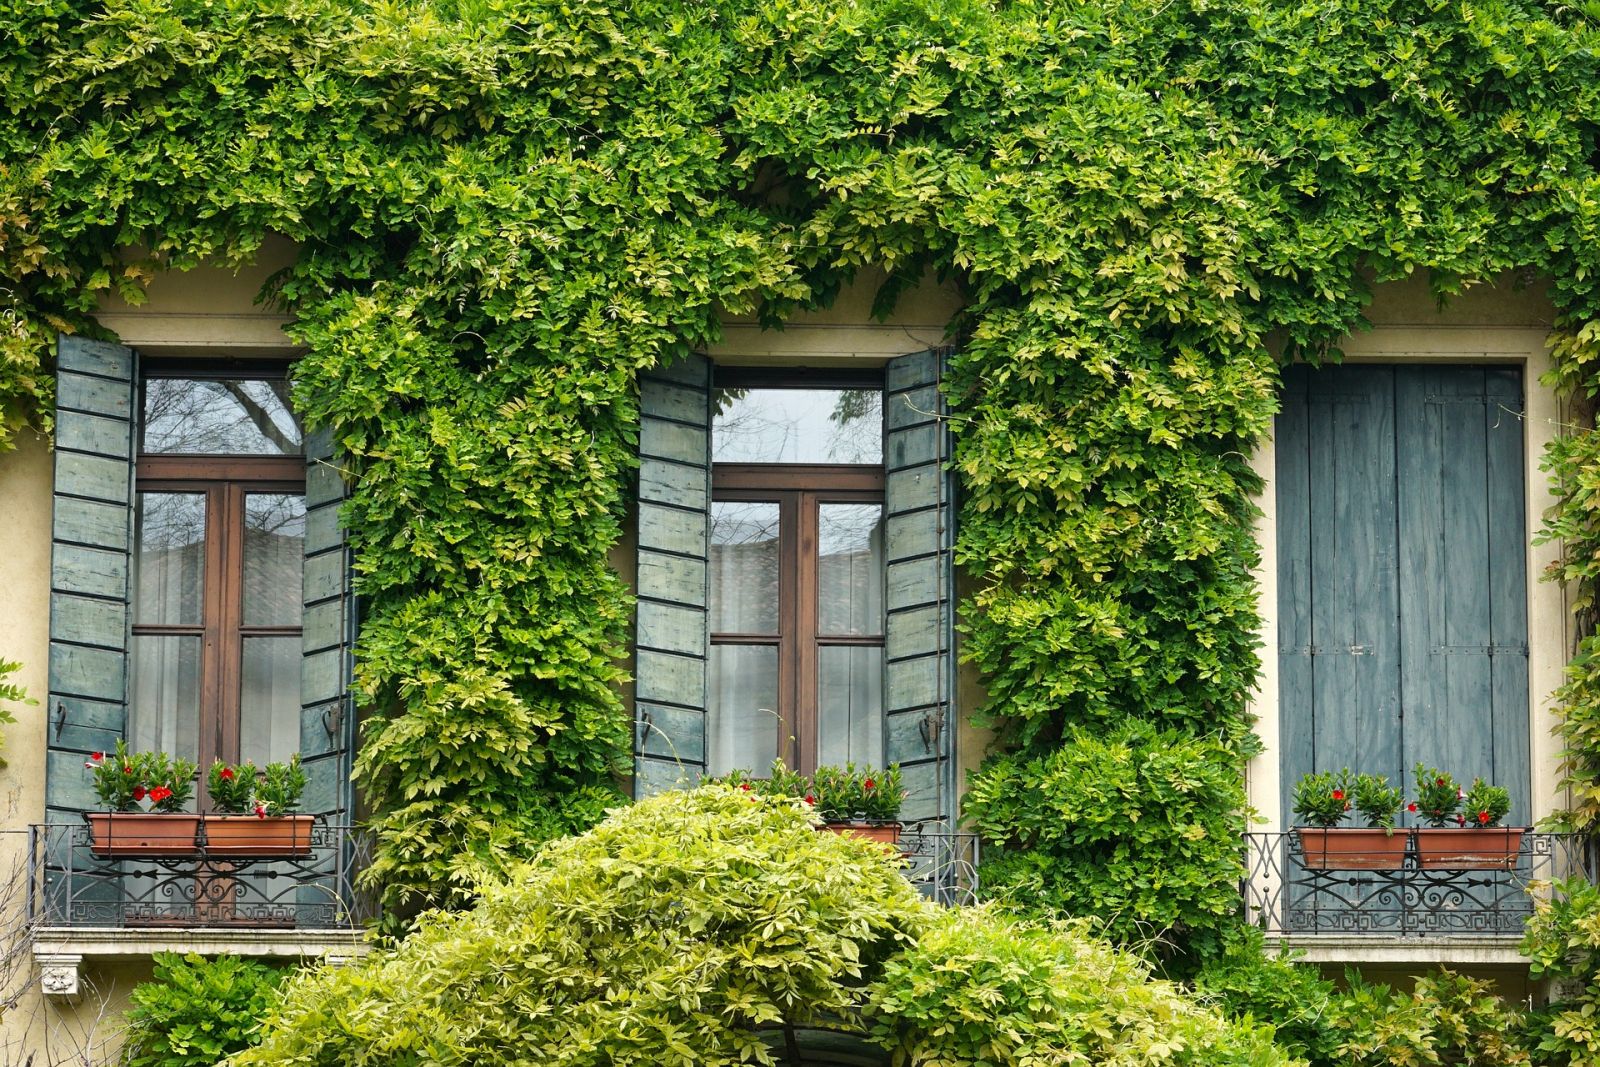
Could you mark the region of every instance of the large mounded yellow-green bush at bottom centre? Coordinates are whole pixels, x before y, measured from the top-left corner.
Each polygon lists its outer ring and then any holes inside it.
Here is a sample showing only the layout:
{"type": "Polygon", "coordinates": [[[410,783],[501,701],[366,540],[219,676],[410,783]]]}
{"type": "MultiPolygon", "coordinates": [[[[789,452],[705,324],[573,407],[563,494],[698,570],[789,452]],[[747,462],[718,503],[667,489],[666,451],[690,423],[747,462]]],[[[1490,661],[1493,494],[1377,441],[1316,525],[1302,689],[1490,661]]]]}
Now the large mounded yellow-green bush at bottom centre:
{"type": "Polygon", "coordinates": [[[928,1067],[1286,1064],[1083,931],[925,902],[800,801],[667,793],[557,841],[395,950],[298,979],[234,1067],[773,1062],[758,1027],[928,1067]]]}

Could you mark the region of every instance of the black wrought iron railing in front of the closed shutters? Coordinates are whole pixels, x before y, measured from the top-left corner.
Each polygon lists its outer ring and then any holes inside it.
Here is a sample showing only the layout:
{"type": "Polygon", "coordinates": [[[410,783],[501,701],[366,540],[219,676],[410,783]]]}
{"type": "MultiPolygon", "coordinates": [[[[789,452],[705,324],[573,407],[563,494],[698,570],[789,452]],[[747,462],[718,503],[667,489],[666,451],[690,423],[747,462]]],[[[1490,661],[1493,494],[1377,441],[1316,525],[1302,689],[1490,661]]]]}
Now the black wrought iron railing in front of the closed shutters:
{"type": "Polygon", "coordinates": [[[1309,865],[1294,830],[1245,837],[1245,915],[1274,936],[1509,937],[1522,934],[1550,881],[1597,873],[1592,843],[1576,833],[1523,833],[1493,869],[1426,867],[1406,833],[1395,870],[1326,870],[1315,857],[1309,865]]]}

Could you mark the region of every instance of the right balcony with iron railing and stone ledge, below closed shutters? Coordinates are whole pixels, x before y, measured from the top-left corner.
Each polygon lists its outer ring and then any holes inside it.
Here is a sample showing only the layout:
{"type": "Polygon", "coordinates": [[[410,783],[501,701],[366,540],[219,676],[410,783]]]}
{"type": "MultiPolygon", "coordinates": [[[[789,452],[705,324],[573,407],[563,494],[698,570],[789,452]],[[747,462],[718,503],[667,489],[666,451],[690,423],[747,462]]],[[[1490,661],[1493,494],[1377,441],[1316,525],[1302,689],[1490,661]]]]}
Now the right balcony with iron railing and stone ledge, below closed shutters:
{"type": "Polygon", "coordinates": [[[1397,870],[1318,870],[1293,830],[1245,843],[1246,918],[1330,963],[1520,963],[1530,889],[1597,873],[1594,846],[1576,833],[1523,833],[1498,869],[1429,869],[1408,841],[1397,870]]]}

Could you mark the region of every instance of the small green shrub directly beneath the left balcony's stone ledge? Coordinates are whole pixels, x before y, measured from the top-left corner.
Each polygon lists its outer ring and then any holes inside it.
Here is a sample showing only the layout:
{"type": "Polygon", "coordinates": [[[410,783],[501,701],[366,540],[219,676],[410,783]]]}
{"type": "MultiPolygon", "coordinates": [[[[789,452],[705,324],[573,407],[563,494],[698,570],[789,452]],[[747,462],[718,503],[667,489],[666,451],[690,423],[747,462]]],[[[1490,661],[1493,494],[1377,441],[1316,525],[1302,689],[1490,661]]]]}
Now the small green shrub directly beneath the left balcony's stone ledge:
{"type": "Polygon", "coordinates": [[[130,993],[126,1067],[211,1067],[250,1048],[286,974],[238,957],[157,953],[150,981],[130,993]]]}

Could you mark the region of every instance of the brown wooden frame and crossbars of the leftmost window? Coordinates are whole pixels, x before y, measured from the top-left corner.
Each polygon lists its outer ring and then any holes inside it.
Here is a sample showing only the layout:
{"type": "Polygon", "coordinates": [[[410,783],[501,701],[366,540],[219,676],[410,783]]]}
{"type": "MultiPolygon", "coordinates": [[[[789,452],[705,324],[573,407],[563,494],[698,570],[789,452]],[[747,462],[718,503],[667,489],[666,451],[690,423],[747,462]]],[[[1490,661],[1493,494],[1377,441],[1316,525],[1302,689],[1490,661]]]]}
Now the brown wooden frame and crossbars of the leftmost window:
{"type": "MultiPolygon", "coordinates": [[[[283,365],[254,365],[248,370],[224,363],[173,360],[150,370],[154,378],[250,378],[286,376],[283,365]]],[[[139,390],[144,405],[144,390],[139,390]]],[[[142,443],[142,442],[141,442],[142,443]]],[[[245,498],[251,493],[306,494],[302,454],[238,456],[206,453],[146,453],[134,458],[134,507],[142,493],[205,494],[205,553],[202,571],[202,611],[198,624],[133,622],[134,637],[198,637],[200,693],[197,705],[197,760],[202,768],[200,805],[205,797],[205,769],[213,760],[237,763],[243,728],[242,677],[245,640],[251,637],[299,637],[302,625],[246,625],[243,614],[245,579],[245,498]]],[[[138,545],[133,552],[138,553],[138,545]]],[[[131,694],[130,694],[131,696],[131,694]]]]}

